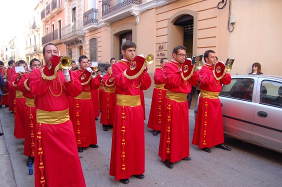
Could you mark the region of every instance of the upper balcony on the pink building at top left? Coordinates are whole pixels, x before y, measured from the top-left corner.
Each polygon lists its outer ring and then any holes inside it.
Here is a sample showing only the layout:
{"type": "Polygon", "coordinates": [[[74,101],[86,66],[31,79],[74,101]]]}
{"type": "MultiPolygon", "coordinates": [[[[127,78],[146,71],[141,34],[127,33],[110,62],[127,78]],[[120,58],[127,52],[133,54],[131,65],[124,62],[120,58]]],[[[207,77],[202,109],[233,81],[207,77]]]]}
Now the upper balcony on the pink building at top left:
{"type": "Polygon", "coordinates": [[[62,10],[60,6],[60,0],[52,0],[42,11],[41,11],[41,21],[46,22],[58,12],[62,10]]]}

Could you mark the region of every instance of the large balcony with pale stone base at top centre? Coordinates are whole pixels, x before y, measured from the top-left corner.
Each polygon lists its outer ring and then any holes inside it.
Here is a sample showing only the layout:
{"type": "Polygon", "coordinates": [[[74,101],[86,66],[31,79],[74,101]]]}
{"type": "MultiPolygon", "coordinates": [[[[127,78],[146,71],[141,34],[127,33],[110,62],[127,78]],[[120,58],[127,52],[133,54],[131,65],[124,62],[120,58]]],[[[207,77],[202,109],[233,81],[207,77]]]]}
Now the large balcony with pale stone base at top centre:
{"type": "Polygon", "coordinates": [[[102,20],[113,22],[130,16],[132,11],[139,11],[142,0],[102,0],[102,20]]]}

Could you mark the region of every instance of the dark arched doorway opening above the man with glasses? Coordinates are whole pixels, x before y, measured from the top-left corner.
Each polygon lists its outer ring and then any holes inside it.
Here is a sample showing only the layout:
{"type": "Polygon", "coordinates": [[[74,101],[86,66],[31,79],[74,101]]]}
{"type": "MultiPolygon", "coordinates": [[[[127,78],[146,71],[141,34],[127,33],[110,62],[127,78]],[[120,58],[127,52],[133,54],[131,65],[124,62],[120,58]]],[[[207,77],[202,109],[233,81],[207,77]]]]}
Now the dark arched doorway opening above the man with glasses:
{"type": "Polygon", "coordinates": [[[183,45],[186,47],[187,56],[191,57],[193,54],[193,28],[194,18],[191,15],[182,15],[177,18],[174,25],[183,26],[183,45]]]}

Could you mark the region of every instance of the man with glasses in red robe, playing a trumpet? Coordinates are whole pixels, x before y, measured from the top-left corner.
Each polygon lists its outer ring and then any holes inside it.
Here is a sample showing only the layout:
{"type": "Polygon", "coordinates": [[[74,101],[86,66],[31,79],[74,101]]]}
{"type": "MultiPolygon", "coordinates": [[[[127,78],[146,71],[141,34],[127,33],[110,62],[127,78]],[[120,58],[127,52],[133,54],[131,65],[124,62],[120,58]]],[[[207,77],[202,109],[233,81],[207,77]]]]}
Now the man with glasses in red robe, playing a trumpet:
{"type": "Polygon", "coordinates": [[[189,117],[187,94],[191,85],[198,83],[198,73],[184,77],[186,47],[173,48],[173,58],[163,66],[164,88],[167,89],[163,101],[163,123],[160,130],[158,155],[165,166],[173,168],[173,162],[190,160],[189,157],[189,117]]]}

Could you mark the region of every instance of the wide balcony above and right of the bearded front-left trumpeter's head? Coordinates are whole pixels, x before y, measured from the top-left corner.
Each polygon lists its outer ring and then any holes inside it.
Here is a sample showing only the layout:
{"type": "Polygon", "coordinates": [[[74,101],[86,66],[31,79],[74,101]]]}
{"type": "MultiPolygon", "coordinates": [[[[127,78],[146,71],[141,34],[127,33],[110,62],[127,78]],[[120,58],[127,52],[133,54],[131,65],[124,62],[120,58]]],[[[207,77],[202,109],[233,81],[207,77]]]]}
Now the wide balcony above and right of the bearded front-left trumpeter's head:
{"type": "Polygon", "coordinates": [[[80,38],[81,36],[83,36],[82,21],[74,21],[61,28],[62,40],[76,40],[76,38],[80,38]]]}

